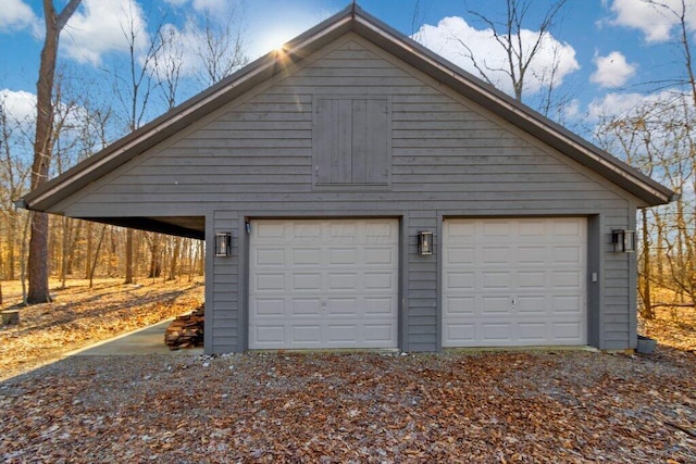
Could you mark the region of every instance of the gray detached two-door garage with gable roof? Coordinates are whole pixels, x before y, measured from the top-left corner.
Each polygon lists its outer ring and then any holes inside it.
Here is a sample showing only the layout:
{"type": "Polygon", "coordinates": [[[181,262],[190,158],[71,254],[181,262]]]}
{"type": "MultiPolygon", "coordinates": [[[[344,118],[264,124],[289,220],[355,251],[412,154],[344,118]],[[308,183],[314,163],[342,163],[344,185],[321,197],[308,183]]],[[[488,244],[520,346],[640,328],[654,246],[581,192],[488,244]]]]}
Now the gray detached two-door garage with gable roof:
{"type": "Polygon", "coordinates": [[[224,353],[635,348],[613,241],[672,198],[350,7],[20,203],[204,239],[224,353]]]}

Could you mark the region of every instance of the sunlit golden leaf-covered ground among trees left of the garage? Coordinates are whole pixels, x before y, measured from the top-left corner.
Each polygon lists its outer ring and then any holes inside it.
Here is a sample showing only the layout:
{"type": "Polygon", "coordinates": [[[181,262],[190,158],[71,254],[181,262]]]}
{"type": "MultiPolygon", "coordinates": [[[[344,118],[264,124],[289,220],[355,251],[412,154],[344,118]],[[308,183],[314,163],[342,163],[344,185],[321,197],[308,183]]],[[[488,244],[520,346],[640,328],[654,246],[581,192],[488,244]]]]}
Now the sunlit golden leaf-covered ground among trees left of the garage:
{"type": "Polygon", "coordinates": [[[20,308],[20,324],[0,325],[0,380],[90,343],[190,312],[203,301],[200,279],[122,281],[100,279],[91,289],[88,280],[69,280],[63,289],[51,281],[53,302],[32,306],[18,305],[17,281],[2,283],[3,309],[20,308]]]}

